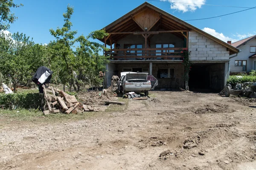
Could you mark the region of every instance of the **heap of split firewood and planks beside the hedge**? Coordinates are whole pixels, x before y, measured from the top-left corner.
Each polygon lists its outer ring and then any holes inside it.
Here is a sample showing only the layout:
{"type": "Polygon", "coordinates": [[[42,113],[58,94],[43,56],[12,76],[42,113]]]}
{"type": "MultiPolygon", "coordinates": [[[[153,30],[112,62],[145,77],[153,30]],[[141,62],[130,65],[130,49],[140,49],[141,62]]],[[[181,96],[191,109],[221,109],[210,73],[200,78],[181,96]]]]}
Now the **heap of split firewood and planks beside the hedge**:
{"type": "Polygon", "coordinates": [[[77,114],[89,111],[99,111],[90,105],[82,105],[77,101],[76,96],[71,96],[58,88],[46,87],[44,88],[44,99],[46,101],[46,107],[44,115],[50,113],[65,113],[65,114],[77,114]]]}

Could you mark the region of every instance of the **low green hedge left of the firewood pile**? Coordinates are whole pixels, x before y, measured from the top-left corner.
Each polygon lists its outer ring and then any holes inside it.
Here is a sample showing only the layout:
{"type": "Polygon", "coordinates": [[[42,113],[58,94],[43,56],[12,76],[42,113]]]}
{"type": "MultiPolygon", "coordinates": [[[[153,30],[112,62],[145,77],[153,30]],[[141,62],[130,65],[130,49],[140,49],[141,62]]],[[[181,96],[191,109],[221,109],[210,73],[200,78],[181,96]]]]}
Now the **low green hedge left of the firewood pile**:
{"type": "Polygon", "coordinates": [[[42,106],[43,98],[39,93],[0,94],[0,106],[9,109],[38,109],[42,106]]]}

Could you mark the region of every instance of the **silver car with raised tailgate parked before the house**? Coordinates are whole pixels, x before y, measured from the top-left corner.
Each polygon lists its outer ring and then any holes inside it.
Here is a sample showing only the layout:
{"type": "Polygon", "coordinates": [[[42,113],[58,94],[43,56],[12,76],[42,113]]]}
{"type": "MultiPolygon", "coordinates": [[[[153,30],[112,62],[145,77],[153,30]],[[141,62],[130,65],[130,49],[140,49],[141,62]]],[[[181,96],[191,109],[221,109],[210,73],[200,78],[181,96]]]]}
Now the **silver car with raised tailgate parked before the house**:
{"type": "Polygon", "coordinates": [[[148,96],[148,91],[152,88],[148,73],[121,73],[121,78],[118,81],[119,91],[123,94],[127,92],[142,93],[148,96]]]}

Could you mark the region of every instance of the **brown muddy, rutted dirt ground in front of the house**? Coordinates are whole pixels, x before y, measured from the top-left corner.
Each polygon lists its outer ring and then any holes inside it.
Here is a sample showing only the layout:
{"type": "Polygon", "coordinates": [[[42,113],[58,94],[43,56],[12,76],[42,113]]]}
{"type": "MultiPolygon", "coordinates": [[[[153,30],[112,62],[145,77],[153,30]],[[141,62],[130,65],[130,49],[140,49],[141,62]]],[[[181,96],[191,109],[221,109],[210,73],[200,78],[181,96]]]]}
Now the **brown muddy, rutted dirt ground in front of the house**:
{"type": "Polygon", "coordinates": [[[86,120],[4,125],[0,169],[256,168],[255,99],[187,92],[150,94],[148,100],[127,99],[125,111],[86,120]]]}

